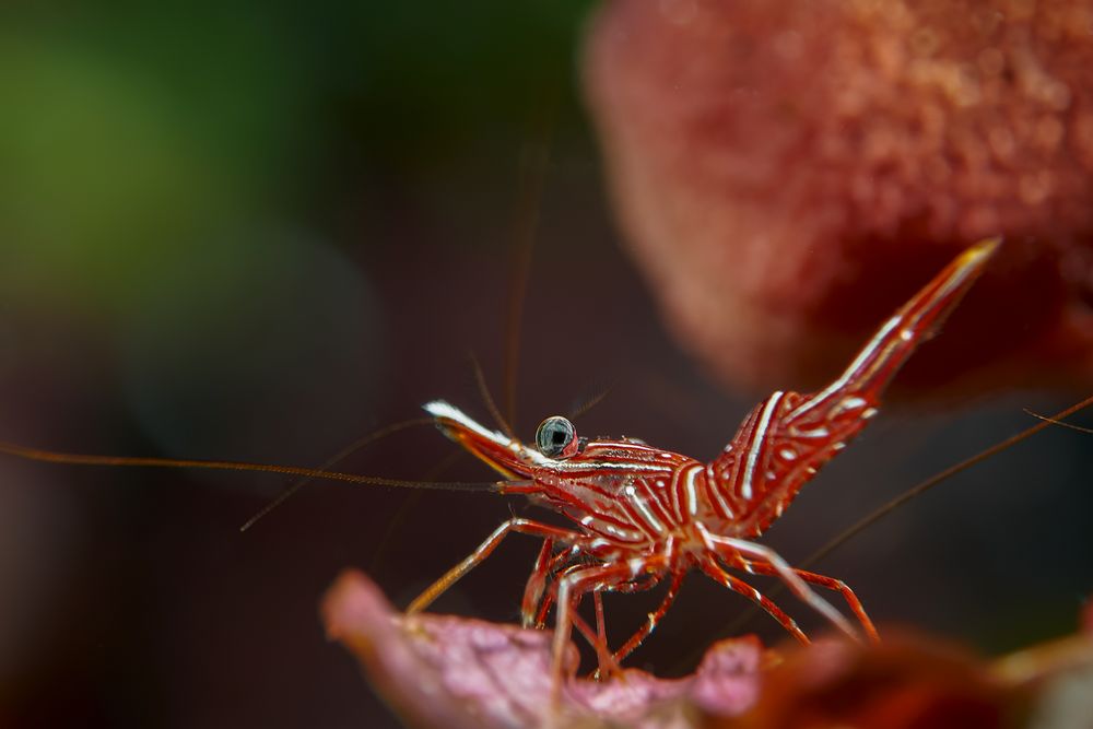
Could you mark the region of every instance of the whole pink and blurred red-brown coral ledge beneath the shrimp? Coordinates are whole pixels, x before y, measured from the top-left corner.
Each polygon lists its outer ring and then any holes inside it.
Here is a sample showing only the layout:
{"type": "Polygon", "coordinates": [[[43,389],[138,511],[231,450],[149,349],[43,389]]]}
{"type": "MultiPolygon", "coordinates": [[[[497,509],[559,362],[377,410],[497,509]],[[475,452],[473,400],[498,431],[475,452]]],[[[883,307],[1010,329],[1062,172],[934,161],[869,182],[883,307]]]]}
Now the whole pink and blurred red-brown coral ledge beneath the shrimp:
{"type": "Polygon", "coordinates": [[[996,661],[936,638],[886,631],[881,645],[821,639],[784,656],[754,637],[714,644],[697,670],[573,679],[551,699],[549,631],[447,615],[407,616],[362,573],[327,593],[328,634],[361,661],[410,725],[444,729],[798,729],[1084,727],[1093,685],[1088,634],[996,661]],[[1030,721],[1032,722],[1030,725],[1030,721]]]}

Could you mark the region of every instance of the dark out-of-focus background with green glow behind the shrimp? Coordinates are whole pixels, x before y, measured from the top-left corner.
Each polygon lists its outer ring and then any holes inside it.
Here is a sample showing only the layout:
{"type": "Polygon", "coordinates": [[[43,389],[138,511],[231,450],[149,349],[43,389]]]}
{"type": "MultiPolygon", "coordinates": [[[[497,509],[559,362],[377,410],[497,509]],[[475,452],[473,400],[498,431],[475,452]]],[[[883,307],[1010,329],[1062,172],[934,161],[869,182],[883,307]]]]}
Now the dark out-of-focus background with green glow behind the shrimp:
{"type": "MultiPolygon", "coordinates": [[[[592,4],[0,10],[0,439],[317,465],[436,397],[485,419],[468,353],[504,402],[534,231],[519,433],[609,387],[584,433],[715,454],[759,398],[674,350],[621,252],[579,92],[592,4]]],[[[1022,407],[1068,399],[886,411],[769,543],[803,558],[1032,424],[1022,407]]],[[[492,478],[471,458],[438,472],[449,452],[418,428],[343,468],[492,478]]],[[[1048,431],[819,568],[882,627],[990,652],[1066,633],[1093,587],[1091,454],[1093,436],[1048,431]]],[[[398,726],[326,642],[324,589],[356,566],[404,605],[528,509],[317,483],[240,534],[284,483],[0,459],[0,725],[398,726]]],[[[436,609],[515,621],[536,549],[506,543],[436,609]]],[[[608,598],[616,640],[657,597],[608,598]]],[[[743,608],[692,578],[633,663],[693,667],[743,608]]],[[[784,639],[763,616],[744,630],[784,639]]]]}

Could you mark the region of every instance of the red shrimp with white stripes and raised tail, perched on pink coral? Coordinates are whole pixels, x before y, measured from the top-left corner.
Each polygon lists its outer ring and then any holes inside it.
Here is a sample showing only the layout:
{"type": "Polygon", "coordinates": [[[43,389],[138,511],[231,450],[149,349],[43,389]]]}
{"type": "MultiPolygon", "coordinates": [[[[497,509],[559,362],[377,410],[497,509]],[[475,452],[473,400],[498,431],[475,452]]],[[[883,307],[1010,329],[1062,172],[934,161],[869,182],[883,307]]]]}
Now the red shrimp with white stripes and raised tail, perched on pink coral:
{"type": "Polygon", "coordinates": [[[775,392],[767,398],[708,463],[632,438],[579,438],[573,424],[561,416],[544,420],[534,445],[528,445],[482,426],[447,402],[425,404],[448,437],[506,478],[501,493],[525,494],[575,526],[561,528],[517,517],[505,521],[415,599],[408,612],[424,610],[507,534],[517,532],[543,540],[525,590],[522,619],[526,625],[542,627],[556,605],[555,691],[561,691],[562,656],[573,626],[595,647],[601,672],[618,670],[619,661],[667,613],[692,568],[757,603],[801,643],[808,643],[808,637],[797,623],[733,573],[779,577],[836,628],[857,638],[859,631],[812,586],[837,591],[861,632],[877,640],[872,621],[849,587],[833,577],[794,568],[754,540],[877,413],[884,388],[916,348],[938,330],[998,245],[997,239],[984,240],[960,255],[888,319],[843,375],[823,390],[775,392]],[[601,595],[645,590],[666,579],[670,585],[659,608],[612,652],[601,595]],[[595,627],[577,613],[589,593],[596,608],[595,627]]]}

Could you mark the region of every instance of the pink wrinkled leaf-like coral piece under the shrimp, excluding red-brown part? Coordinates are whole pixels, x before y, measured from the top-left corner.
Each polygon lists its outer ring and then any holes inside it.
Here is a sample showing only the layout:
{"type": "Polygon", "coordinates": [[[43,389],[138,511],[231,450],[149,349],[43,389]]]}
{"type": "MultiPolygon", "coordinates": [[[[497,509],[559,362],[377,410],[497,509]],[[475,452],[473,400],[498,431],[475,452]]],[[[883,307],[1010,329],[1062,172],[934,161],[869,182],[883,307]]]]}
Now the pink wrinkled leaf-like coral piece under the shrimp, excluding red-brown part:
{"type": "MultiPolygon", "coordinates": [[[[404,616],[372,580],[346,571],[322,605],[328,634],[361,660],[391,707],[414,726],[687,729],[737,716],[759,695],[763,649],[753,637],[715,644],[694,674],[638,670],[567,682],[551,703],[551,633],[447,615],[404,616]]],[[[571,647],[567,668],[576,668],[571,647]]]]}

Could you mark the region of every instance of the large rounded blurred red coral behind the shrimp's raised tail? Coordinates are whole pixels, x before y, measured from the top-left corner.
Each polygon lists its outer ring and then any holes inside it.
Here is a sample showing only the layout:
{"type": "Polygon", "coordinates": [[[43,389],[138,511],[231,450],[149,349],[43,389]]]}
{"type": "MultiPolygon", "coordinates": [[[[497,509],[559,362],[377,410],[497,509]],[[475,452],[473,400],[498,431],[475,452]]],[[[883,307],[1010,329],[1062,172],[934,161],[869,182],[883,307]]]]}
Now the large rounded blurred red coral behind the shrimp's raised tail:
{"type": "Polygon", "coordinates": [[[1091,24],[1077,0],[607,2],[590,106],[683,345],[736,386],[820,384],[943,261],[1002,235],[900,387],[1088,383],[1091,24]]]}

